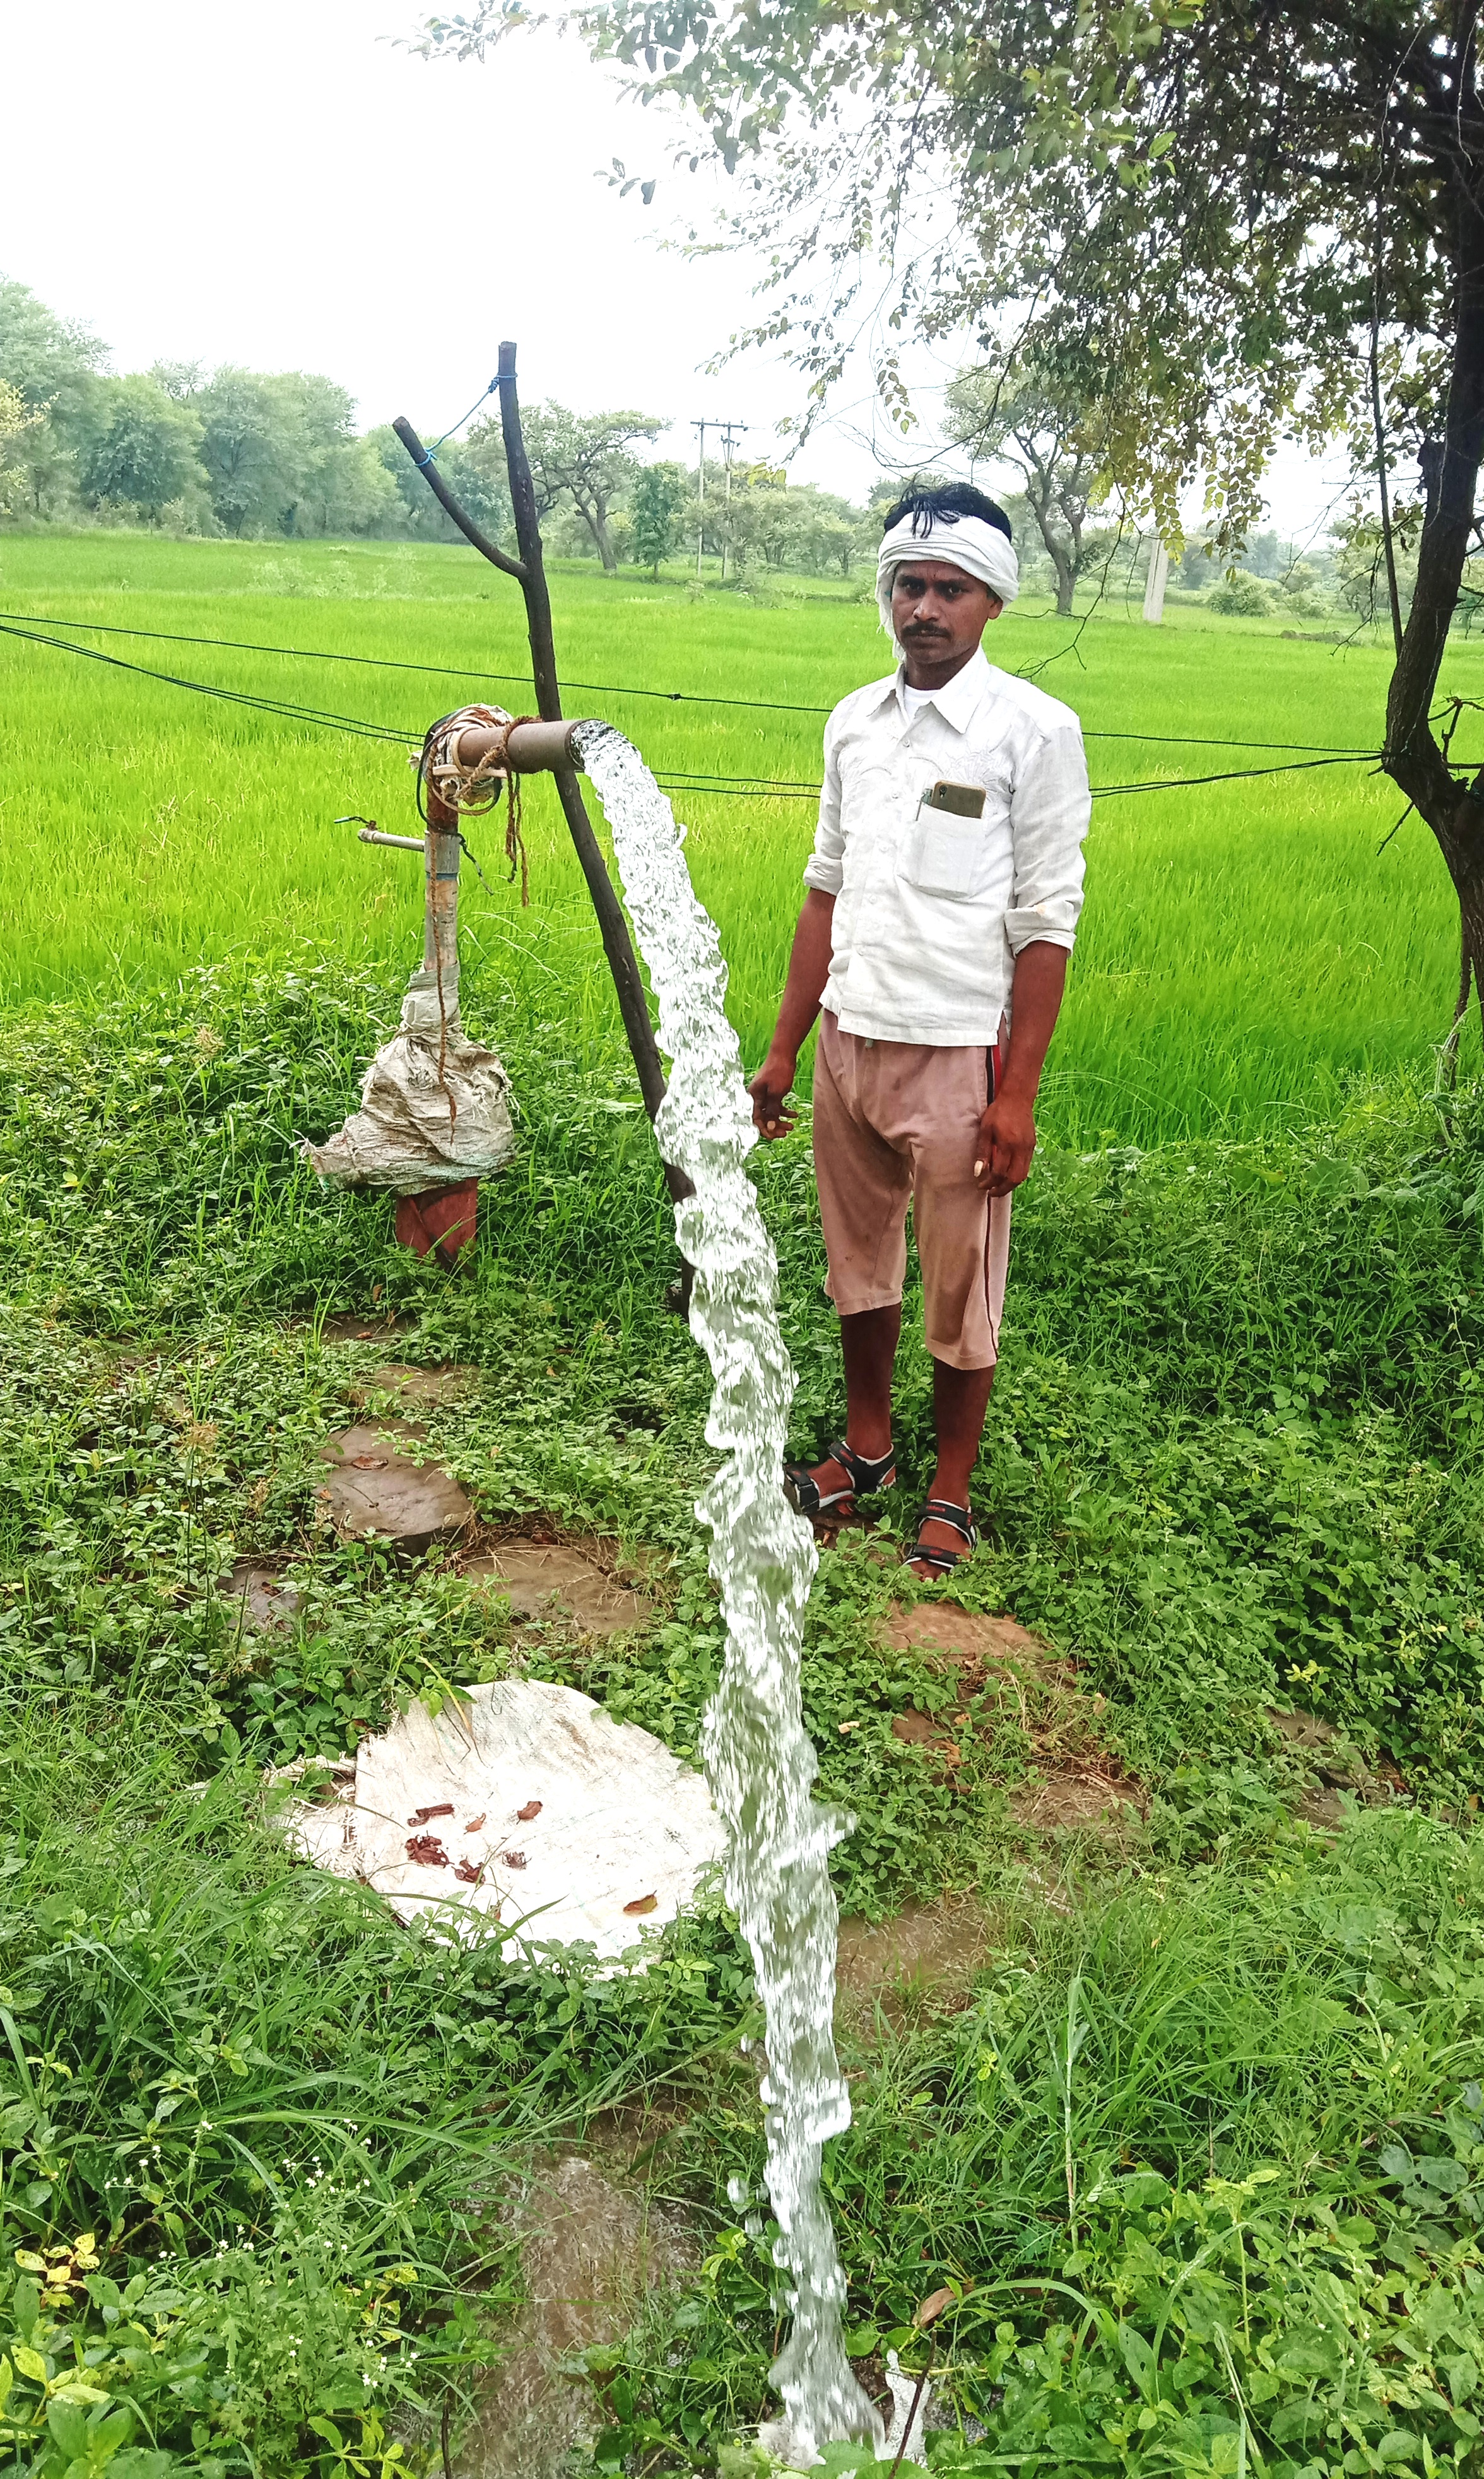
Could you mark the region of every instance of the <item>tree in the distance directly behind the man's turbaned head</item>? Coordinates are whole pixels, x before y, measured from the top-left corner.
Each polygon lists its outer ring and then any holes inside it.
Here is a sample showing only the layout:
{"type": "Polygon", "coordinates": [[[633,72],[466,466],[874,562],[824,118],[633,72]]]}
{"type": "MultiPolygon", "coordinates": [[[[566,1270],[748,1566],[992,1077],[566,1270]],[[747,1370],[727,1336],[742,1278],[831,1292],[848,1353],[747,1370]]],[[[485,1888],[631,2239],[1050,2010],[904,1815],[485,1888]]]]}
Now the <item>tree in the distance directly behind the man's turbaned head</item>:
{"type": "Polygon", "coordinates": [[[1105,496],[1105,461],[1095,414],[1055,369],[1026,354],[1003,369],[971,369],[949,387],[949,421],[956,446],[976,459],[1013,464],[1026,486],[1026,506],[1055,573],[1055,607],[1073,610],[1078,578],[1090,565],[1088,511],[1105,496]]]}

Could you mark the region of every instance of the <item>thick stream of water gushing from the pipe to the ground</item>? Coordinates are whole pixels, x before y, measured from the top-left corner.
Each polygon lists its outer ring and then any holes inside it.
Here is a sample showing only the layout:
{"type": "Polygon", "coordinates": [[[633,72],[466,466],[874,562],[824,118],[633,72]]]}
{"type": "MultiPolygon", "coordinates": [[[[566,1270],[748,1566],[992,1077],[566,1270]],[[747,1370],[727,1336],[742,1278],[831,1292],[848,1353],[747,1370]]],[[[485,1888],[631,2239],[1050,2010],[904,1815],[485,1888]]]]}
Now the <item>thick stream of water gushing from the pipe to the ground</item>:
{"type": "Polygon", "coordinates": [[[706,1440],[726,1455],[696,1507],[711,1527],[726,1619],[701,1755],[728,1832],[726,1896],[768,2025],[766,2179],[793,2313],[773,2382],[790,2452],[808,2462],[830,2439],[877,2442],[882,2427],[845,2355],[845,2273],[820,2191],[820,2147],[850,2125],[835,2060],[837,1909],[827,1874],[850,1820],[810,1797],[818,1760],[803,1728],[798,1649],[815,1542],[783,1495],[793,1368],[778,1331],[778,1259],[743,1170],[756,1130],[723,1009],[716,925],[696,902],[674,811],[639,751],[609,724],[580,724],[577,739],[659,1002],[659,1046],[674,1061],[657,1138],[696,1187],[676,1205],[676,1237],[696,1267],[691,1334],[716,1381],[706,1440]]]}

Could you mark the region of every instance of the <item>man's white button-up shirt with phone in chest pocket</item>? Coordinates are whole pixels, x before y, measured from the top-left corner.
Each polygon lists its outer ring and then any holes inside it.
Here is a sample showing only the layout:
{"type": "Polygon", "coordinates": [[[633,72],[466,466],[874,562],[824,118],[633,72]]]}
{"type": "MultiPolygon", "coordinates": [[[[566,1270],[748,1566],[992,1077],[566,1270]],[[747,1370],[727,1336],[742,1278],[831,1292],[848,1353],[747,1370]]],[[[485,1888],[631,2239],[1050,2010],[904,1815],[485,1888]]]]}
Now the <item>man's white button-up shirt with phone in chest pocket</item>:
{"type": "Polygon", "coordinates": [[[803,873],[835,895],[823,1006],[867,1041],[998,1041],[1021,947],[1073,947],[1090,813],[1078,716],[984,652],[944,689],[855,689],[803,873]],[[922,808],[939,781],[981,788],[984,816],[922,808]]]}

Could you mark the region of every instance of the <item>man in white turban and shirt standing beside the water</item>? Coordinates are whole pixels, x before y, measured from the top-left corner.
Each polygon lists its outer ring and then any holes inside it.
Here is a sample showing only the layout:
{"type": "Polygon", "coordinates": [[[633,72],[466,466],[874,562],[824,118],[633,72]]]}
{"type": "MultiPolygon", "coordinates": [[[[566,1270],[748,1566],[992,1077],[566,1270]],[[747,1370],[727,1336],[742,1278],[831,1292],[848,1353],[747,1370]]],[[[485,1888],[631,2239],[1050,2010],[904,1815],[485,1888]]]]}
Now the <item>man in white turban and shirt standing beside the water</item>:
{"type": "Polygon", "coordinates": [[[907,1205],[934,1361],[936,1470],[909,1564],[949,1574],[979,1532],[984,1435],[1036,1088],[1083,907],[1090,793],[1075,714],[996,672],[979,640],[1018,592],[1011,526],[984,491],[909,491],[877,560],[899,664],[825,724],[820,828],[773,1046],[763,1138],[820,1016],[815,1170],[845,1356],[845,1438],[788,1465],[803,1515],[889,1490],[907,1205]]]}

